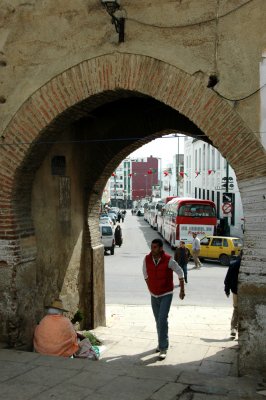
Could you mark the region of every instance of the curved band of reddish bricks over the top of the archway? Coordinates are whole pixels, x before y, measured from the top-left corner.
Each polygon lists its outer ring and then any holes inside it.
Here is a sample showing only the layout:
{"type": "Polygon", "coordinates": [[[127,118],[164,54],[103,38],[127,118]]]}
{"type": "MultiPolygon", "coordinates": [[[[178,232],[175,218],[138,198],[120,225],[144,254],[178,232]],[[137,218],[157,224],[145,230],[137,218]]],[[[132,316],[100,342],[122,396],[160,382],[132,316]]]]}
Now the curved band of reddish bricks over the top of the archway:
{"type": "MultiPolygon", "coordinates": [[[[200,79],[157,59],[134,54],[100,56],[54,77],[17,111],[1,136],[2,143],[34,142],[67,109],[73,107],[80,113],[79,104],[90,96],[119,89],[151,96],[193,121],[226,156],[240,180],[264,176],[263,147],[226,101],[200,79]]],[[[10,152],[4,157],[4,175],[12,179],[29,147],[21,145],[12,153],[12,160],[10,152]]]]}

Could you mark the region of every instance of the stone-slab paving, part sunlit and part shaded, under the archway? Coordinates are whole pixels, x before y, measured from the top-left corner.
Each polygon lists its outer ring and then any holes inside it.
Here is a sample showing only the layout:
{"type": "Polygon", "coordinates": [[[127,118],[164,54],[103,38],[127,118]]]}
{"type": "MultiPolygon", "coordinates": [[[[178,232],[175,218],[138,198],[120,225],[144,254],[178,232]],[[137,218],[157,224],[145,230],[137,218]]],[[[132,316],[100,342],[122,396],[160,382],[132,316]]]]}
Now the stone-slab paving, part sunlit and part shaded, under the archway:
{"type": "Polygon", "coordinates": [[[231,312],[172,305],[170,349],[159,361],[151,307],[107,305],[107,326],[94,331],[100,361],[0,350],[0,399],[265,400],[266,380],[237,377],[231,312]]]}

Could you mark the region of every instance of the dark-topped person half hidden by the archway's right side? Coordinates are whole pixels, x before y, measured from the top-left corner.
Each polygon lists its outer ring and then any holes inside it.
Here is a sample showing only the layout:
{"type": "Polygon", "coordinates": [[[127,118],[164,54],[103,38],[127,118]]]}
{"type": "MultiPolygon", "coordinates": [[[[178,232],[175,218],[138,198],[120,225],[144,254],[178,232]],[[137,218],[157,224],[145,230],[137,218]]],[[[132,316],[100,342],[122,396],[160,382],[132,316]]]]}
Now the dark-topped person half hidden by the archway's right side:
{"type": "Polygon", "coordinates": [[[225,280],[224,280],[224,291],[227,297],[230,296],[230,292],[233,294],[233,314],[231,318],[231,336],[235,337],[238,330],[238,305],[237,305],[237,283],[238,274],[241,265],[242,250],[235,259],[230,261],[225,280]]]}

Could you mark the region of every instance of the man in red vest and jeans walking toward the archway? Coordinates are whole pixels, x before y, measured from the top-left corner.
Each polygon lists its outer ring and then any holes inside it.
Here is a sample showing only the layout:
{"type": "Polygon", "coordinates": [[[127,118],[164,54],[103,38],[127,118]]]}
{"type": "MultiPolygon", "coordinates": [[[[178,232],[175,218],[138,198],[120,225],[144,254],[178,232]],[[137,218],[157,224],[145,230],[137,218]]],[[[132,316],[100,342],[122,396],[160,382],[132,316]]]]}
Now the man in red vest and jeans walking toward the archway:
{"type": "Polygon", "coordinates": [[[143,261],[143,275],[151,294],[151,306],[158,335],[156,352],[160,352],[161,360],[165,359],[169,347],[168,313],[174,291],[173,271],[178,275],[179,298],[183,300],[185,297],[183,271],[176,261],[165,253],[163,241],[154,239],[151,243],[151,252],[143,261]]]}

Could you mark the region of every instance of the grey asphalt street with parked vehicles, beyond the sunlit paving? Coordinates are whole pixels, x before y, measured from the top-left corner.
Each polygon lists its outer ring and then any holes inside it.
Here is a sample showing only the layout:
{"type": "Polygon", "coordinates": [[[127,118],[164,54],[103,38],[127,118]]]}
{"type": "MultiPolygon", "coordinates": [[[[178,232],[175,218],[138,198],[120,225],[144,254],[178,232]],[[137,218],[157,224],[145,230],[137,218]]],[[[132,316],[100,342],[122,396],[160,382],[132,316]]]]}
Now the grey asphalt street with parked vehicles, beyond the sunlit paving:
{"type": "MultiPolygon", "coordinates": [[[[123,230],[124,243],[116,247],[115,255],[105,256],[105,287],[107,304],[150,304],[150,296],[142,276],[142,261],[150,251],[151,240],[160,235],[154,231],[143,217],[132,216],[128,211],[123,230]]],[[[173,254],[165,244],[165,250],[173,254]]],[[[224,294],[224,277],[227,267],[219,263],[205,261],[200,270],[188,265],[188,285],[186,298],[178,299],[178,289],[174,299],[179,305],[200,305],[232,307],[231,299],[224,294]]],[[[178,278],[175,276],[175,283],[178,278]]]]}

